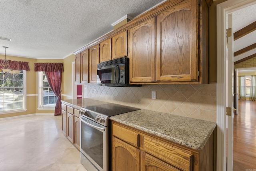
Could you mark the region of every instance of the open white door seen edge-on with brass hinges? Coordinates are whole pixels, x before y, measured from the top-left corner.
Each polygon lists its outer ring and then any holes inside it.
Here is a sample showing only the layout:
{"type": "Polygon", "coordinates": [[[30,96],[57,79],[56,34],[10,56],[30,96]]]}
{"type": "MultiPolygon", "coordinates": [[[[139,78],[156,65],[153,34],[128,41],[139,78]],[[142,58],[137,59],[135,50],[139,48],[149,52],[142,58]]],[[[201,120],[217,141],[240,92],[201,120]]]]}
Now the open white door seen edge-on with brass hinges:
{"type": "Polygon", "coordinates": [[[234,122],[234,52],[233,52],[233,30],[232,30],[232,14],[228,14],[228,28],[231,28],[231,36],[227,38],[228,55],[226,59],[228,61],[227,66],[227,84],[226,92],[226,106],[227,113],[231,115],[228,118],[228,159],[227,159],[227,171],[233,170],[233,122],[234,122]]]}

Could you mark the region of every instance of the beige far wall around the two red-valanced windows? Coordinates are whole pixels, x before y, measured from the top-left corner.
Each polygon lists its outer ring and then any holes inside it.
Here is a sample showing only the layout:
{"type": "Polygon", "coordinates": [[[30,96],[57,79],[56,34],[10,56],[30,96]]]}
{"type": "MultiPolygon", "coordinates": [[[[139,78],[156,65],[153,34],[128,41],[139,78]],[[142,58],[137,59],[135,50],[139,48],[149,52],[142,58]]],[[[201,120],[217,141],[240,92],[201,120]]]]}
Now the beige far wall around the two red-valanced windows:
{"type": "MultiPolygon", "coordinates": [[[[4,59],[4,55],[0,55],[0,59],[4,59]]],[[[63,60],[49,60],[49,59],[33,59],[33,58],[22,58],[16,56],[6,56],[8,60],[24,61],[28,62],[30,71],[26,72],[26,100],[27,110],[18,113],[1,114],[0,118],[14,117],[20,115],[34,114],[34,113],[54,113],[54,110],[38,110],[38,99],[37,99],[37,73],[34,72],[34,63],[63,63],[63,60]]],[[[65,69],[65,68],[64,68],[65,69]]]]}

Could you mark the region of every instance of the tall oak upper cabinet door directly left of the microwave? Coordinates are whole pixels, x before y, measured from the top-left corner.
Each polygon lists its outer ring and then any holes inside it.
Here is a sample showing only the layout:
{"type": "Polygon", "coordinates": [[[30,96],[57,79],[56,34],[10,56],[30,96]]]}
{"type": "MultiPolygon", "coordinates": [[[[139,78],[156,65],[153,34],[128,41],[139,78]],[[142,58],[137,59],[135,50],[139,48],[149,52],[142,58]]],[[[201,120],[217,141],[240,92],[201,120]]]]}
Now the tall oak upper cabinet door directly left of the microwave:
{"type": "Polygon", "coordinates": [[[89,78],[90,83],[97,83],[97,64],[100,62],[99,56],[99,45],[93,46],[89,49],[89,63],[90,72],[89,78]]]}

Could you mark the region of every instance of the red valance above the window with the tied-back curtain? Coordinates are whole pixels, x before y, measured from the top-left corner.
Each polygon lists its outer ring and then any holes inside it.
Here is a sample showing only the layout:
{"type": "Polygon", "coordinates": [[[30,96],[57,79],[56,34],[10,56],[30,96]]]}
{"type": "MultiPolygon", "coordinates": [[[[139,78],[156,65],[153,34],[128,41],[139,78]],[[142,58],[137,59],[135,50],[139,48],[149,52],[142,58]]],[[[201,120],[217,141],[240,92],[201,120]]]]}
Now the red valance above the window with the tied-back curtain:
{"type": "Polygon", "coordinates": [[[62,63],[35,63],[34,71],[63,72],[62,63]]]}

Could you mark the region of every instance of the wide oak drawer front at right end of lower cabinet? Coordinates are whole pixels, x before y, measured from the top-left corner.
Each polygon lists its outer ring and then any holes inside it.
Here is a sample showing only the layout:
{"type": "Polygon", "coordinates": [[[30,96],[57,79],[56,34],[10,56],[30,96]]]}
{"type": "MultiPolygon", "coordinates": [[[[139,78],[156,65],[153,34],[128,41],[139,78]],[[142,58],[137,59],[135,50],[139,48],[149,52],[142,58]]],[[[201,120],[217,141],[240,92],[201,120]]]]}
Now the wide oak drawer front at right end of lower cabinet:
{"type": "Polygon", "coordinates": [[[170,143],[154,137],[142,137],[144,151],[178,167],[184,171],[192,170],[192,154],[190,151],[174,147],[170,143]]]}

